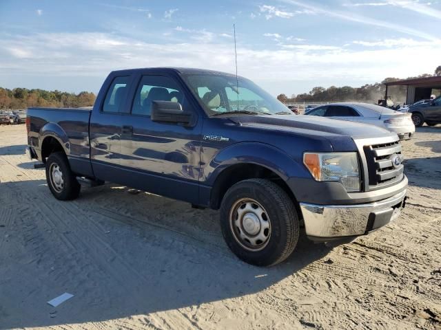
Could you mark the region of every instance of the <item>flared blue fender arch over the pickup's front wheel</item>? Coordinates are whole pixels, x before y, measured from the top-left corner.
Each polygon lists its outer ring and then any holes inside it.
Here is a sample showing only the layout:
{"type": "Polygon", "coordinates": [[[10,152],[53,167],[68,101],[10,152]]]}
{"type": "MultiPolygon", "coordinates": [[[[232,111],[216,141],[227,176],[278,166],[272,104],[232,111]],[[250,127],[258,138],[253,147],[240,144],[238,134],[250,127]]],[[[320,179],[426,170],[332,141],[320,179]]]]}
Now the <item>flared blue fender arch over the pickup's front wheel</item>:
{"type": "Polygon", "coordinates": [[[305,166],[285,151],[262,142],[239,142],[223,149],[204,170],[203,184],[213,186],[225,168],[235,164],[256,164],[268,168],[287,181],[290,177],[309,177],[305,166]]]}

